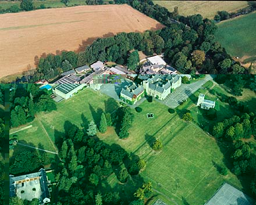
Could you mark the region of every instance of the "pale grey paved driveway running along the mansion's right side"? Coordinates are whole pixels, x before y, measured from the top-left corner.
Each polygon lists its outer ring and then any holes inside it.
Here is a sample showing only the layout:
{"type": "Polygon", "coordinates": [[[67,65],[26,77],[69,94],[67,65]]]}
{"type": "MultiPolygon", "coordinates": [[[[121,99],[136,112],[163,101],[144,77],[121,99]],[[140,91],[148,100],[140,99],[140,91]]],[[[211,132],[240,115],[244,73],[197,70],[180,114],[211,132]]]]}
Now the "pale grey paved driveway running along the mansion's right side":
{"type": "Polygon", "coordinates": [[[195,91],[201,88],[202,85],[205,84],[205,82],[212,79],[213,78],[211,75],[205,75],[205,78],[203,78],[202,80],[198,80],[191,84],[182,84],[179,88],[175,89],[173,93],[170,93],[164,100],[158,100],[158,102],[161,102],[168,107],[175,108],[179,106],[180,102],[186,100],[187,98],[189,98],[190,95],[192,95],[195,91]]]}

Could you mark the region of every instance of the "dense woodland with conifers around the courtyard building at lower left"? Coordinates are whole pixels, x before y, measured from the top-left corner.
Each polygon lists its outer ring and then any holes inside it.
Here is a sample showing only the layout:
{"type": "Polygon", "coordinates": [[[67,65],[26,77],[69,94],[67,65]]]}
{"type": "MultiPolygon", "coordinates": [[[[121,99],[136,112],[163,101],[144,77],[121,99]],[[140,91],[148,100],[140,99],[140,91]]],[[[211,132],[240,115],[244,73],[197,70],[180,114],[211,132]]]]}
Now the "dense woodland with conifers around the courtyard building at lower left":
{"type": "MultiPolygon", "coordinates": [[[[127,136],[127,129],[132,117],[130,107],[120,107],[115,115],[102,113],[99,122],[91,121],[83,130],[76,125],[65,122],[65,133],[60,133],[56,141],[59,157],[52,162],[56,172],[56,188],[52,193],[51,204],[132,204],[143,205],[152,195],[151,182],[144,182],[140,170],[145,167],[145,161],[133,153],[127,153],[119,145],[107,145],[96,136],[97,128],[105,132],[106,127],[114,125],[119,130],[120,138],[127,136]],[[119,121],[122,121],[119,125],[119,121]],[[97,124],[97,125],[96,125],[97,124]],[[98,127],[97,127],[98,126],[98,127]],[[119,127],[120,126],[120,127],[119,127]],[[134,195],[119,192],[110,188],[106,178],[115,174],[120,183],[126,183],[130,176],[136,179],[131,187],[134,195]]],[[[15,157],[10,159],[10,173],[21,174],[38,170],[49,164],[44,153],[35,150],[16,150],[15,157]],[[30,163],[27,163],[30,159],[30,163]]],[[[10,204],[37,204],[38,201],[12,197],[10,204]]]]}

